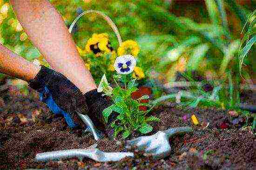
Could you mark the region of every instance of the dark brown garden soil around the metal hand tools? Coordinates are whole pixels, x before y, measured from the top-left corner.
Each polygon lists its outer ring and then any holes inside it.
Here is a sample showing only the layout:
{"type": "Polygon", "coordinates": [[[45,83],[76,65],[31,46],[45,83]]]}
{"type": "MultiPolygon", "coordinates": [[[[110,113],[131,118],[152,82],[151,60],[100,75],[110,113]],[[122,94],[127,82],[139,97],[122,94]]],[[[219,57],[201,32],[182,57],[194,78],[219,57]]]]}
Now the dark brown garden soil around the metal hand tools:
{"type": "MultiPolygon", "coordinates": [[[[27,94],[14,86],[0,91],[0,169],[256,169],[256,139],[249,128],[251,119],[228,111],[158,107],[153,112],[161,122],[153,124],[151,134],[171,127],[192,126],[193,133],[170,139],[170,156],[153,160],[134,150],[134,158],[119,162],[98,163],[91,159],[63,159],[34,162],[37,153],[64,149],[87,148],[95,143],[102,151],[125,151],[108,138],[95,141],[92,135],[72,132],[62,117],[54,116],[37,93],[27,94]],[[193,126],[195,114],[200,126],[193,126]],[[237,120],[234,123],[234,120],[237,120]],[[208,124],[209,123],[209,124],[208,124]],[[208,125],[208,126],[207,126],[208,125]],[[247,127],[248,126],[248,127],[247,127]]],[[[135,137],[135,136],[134,136],[135,137]]]]}

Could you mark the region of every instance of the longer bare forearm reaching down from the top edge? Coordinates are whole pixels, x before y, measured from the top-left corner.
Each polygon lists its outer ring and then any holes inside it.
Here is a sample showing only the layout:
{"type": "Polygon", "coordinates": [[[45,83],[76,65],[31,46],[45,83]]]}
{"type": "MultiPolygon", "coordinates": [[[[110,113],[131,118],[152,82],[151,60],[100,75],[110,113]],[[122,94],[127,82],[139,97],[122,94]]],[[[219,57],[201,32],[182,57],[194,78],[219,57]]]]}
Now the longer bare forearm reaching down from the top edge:
{"type": "Polygon", "coordinates": [[[60,14],[47,0],[10,0],[28,37],[55,70],[85,93],[96,88],[60,14]]]}

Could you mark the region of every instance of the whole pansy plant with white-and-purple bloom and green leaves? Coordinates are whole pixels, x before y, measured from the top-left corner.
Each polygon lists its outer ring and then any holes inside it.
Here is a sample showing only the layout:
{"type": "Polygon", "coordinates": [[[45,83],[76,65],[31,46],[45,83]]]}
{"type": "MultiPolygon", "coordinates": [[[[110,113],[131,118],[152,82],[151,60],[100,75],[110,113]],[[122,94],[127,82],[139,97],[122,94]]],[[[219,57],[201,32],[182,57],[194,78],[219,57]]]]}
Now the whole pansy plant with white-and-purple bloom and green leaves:
{"type": "Polygon", "coordinates": [[[116,120],[111,122],[111,127],[114,128],[114,137],[120,132],[122,138],[126,139],[132,132],[140,132],[142,134],[151,132],[153,127],[150,122],[159,121],[155,116],[147,116],[154,106],[148,103],[142,103],[141,100],[149,99],[148,95],[143,95],[141,98],[132,99],[131,94],[138,90],[136,88],[136,79],[128,80],[128,74],[132,73],[136,66],[136,59],[131,55],[117,57],[114,63],[114,68],[118,75],[113,75],[115,87],[111,88],[108,85],[106,76],[103,75],[101,83],[98,87],[98,92],[103,92],[108,95],[113,104],[102,112],[105,121],[112,112],[118,113],[116,120]],[[122,82],[123,86],[120,85],[122,82]],[[148,107],[148,110],[140,110],[140,106],[148,107]]]}

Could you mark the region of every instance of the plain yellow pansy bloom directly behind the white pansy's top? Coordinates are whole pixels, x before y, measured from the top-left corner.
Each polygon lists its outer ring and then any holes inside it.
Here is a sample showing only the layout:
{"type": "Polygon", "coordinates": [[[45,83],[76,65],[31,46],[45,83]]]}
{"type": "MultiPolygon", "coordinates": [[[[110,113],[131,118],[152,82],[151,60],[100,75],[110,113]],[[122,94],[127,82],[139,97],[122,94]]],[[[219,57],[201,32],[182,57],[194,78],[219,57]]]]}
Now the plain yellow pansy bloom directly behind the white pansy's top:
{"type": "Polygon", "coordinates": [[[140,51],[140,47],[136,43],[136,41],[127,40],[121,44],[121,46],[117,50],[117,53],[118,53],[118,56],[123,56],[125,54],[131,54],[134,57],[137,57],[139,51],[140,51]]]}

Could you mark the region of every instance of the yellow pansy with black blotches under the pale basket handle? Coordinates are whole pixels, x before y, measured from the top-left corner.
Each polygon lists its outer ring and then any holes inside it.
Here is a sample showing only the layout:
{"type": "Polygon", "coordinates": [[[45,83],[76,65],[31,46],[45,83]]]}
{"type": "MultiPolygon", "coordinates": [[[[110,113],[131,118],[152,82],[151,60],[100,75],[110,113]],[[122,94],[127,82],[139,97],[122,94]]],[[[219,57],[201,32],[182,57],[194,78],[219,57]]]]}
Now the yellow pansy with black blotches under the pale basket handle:
{"type": "Polygon", "coordinates": [[[111,52],[113,50],[110,47],[108,41],[108,34],[93,34],[92,38],[89,38],[85,46],[87,52],[93,52],[97,57],[101,56],[105,52],[111,52]]]}

